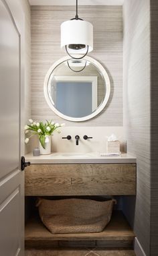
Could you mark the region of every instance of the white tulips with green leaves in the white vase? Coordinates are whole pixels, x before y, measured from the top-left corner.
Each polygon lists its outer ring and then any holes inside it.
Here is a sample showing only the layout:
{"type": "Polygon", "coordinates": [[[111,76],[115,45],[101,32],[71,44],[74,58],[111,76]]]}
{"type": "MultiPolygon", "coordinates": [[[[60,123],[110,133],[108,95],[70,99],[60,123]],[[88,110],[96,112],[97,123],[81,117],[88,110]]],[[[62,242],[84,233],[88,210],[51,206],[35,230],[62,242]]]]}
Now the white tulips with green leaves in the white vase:
{"type": "Polygon", "coordinates": [[[40,143],[42,147],[45,149],[45,143],[49,142],[48,136],[52,135],[55,130],[58,133],[60,133],[58,128],[64,125],[65,125],[64,123],[62,123],[61,125],[59,123],[54,123],[52,122],[52,120],[51,121],[46,120],[46,123],[43,123],[43,122],[38,123],[33,121],[32,119],[29,119],[29,124],[25,125],[25,134],[31,132],[31,135],[25,138],[25,143],[28,143],[29,139],[36,134],[40,139],[40,143]]]}

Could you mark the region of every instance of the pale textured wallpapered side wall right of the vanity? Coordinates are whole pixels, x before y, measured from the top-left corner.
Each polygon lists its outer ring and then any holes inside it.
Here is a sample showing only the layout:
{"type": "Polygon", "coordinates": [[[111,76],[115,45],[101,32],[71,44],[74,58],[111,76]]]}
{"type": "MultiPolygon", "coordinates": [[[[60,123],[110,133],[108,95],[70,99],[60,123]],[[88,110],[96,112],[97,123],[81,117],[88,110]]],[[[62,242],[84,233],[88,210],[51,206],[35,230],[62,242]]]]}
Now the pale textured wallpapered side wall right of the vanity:
{"type": "Polygon", "coordinates": [[[127,150],[137,156],[137,197],[125,200],[125,214],[146,255],[150,254],[150,1],[124,4],[124,125],[127,150]]]}

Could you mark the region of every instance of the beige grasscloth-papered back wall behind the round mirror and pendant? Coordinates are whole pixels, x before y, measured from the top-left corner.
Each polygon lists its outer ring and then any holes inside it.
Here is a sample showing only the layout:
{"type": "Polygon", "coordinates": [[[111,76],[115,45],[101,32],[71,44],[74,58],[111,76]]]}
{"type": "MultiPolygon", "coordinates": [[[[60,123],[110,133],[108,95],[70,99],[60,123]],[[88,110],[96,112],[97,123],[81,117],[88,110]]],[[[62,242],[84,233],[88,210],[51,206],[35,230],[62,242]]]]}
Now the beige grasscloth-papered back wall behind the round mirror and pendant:
{"type": "MultiPolygon", "coordinates": [[[[110,100],[102,113],[78,126],[123,125],[123,15],[121,6],[80,6],[80,18],[94,26],[94,57],[106,67],[110,76],[110,100]]],[[[60,49],[60,24],[73,18],[74,6],[31,7],[31,101],[32,118],[54,119],[63,123],[44,98],[44,77],[50,66],[64,57],[60,49]]],[[[74,126],[66,121],[66,125],[74,126]]]]}

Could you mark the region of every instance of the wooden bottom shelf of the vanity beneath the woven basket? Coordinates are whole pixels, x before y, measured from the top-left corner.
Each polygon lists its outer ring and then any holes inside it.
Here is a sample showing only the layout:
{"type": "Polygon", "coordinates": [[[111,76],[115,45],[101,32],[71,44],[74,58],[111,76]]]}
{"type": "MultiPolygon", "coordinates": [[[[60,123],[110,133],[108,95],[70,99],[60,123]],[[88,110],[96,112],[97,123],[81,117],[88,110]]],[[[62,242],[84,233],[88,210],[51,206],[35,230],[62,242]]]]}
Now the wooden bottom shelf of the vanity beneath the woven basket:
{"type": "Polygon", "coordinates": [[[25,226],[26,247],[133,247],[135,234],[121,211],[114,211],[102,232],[52,234],[39,216],[29,218],[25,226]]]}

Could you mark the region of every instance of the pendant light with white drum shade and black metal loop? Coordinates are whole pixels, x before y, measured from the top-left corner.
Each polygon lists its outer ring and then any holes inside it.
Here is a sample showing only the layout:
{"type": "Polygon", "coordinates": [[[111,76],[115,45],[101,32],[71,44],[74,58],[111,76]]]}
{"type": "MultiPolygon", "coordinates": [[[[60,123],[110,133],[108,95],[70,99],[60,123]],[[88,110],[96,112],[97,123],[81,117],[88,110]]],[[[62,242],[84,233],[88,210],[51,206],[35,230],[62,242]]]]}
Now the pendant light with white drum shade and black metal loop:
{"type": "Polygon", "coordinates": [[[78,18],[78,0],[75,18],[61,24],[61,48],[65,48],[72,59],[82,59],[93,50],[93,26],[90,22],[78,18]]]}

